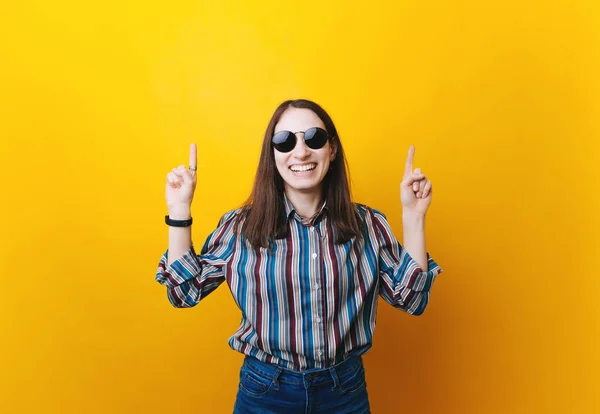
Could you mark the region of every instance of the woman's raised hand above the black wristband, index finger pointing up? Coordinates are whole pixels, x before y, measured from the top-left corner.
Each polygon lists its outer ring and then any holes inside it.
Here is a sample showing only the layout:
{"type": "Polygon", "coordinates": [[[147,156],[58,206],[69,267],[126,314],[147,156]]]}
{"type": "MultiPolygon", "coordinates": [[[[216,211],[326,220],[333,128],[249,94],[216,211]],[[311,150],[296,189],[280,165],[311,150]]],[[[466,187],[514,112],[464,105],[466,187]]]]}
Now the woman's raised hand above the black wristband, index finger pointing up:
{"type": "Polygon", "coordinates": [[[177,215],[188,215],[196,189],[196,144],[190,145],[190,170],[184,165],[167,174],[167,208],[172,219],[187,219],[187,217],[175,217],[177,215]]]}

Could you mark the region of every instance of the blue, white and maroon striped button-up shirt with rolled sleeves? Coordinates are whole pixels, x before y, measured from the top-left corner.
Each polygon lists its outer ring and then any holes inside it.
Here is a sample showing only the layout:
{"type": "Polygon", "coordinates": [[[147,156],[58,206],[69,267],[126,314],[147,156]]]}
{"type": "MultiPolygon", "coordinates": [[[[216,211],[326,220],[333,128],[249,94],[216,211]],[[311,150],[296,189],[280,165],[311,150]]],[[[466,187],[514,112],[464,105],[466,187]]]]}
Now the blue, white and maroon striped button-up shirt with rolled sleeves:
{"type": "Polygon", "coordinates": [[[381,212],[355,204],[365,223],[362,240],[336,244],[325,204],[308,224],[286,197],[284,204],[287,235],[270,248],[254,248],[234,233],[238,209],[221,218],[200,255],[192,243],[167,266],[167,249],[155,280],[167,287],[171,304],[192,307],[226,281],[242,311],[229,346],[297,371],[367,352],[378,295],[409,314],[423,313],[442,269],[427,253],[423,271],[381,212]]]}

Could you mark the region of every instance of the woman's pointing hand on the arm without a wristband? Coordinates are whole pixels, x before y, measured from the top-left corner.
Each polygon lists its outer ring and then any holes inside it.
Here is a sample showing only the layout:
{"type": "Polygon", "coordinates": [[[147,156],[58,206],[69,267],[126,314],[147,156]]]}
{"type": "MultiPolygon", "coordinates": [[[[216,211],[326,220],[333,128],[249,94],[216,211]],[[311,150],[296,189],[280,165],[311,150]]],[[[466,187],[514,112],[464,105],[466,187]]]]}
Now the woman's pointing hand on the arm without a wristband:
{"type": "Polygon", "coordinates": [[[420,168],[413,171],[412,164],[415,158],[415,147],[408,149],[404,177],[400,183],[400,201],[404,213],[425,215],[431,204],[431,181],[429,181],[420,168]]]}

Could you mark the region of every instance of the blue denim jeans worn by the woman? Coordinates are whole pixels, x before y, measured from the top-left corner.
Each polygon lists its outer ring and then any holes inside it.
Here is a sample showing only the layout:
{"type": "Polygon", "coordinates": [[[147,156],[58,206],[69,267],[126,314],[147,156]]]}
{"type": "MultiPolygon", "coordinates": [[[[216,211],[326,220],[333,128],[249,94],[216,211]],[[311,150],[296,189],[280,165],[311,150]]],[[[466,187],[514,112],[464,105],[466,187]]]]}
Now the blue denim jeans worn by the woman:
{"type": "Polygon", "coordinates": [[[299,372],[246,356],[233,412],[370,413],[362,358],[299,372]]]}

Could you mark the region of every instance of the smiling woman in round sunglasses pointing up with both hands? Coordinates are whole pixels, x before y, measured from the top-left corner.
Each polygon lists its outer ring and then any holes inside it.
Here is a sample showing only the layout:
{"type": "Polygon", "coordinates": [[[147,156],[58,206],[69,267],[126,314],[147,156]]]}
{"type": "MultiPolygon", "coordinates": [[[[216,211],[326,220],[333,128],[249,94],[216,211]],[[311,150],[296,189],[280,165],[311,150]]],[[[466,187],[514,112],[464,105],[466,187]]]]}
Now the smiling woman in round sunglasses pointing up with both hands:
{"type": "Polygon", "coordinates": [[[420,315],[441,272],[425,249],[432,186],[413,171],[413,157],[411,146],[404,246],[381,212],[352,203],[337,130],[308,100],[277,108],[249,200],[221,218],[200,255],[190,231],[194,144],[189,170],[167,175],[169,249],[156,280],[176,307],[229,285],[242,311],[229,345],[246,355],[235,413],[369,412],[361,355],[371,347],[377,296],[420,315]]]}

